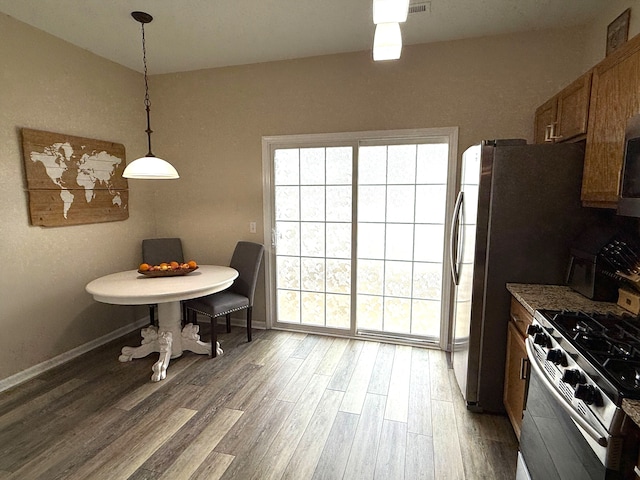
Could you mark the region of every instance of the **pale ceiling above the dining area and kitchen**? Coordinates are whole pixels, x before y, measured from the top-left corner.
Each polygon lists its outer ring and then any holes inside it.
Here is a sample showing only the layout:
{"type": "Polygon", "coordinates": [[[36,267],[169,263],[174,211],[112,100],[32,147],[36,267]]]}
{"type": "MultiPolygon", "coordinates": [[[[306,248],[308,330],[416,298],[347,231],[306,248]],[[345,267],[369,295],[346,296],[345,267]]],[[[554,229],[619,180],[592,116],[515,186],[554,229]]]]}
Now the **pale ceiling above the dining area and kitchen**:
{"type": "MultiPolygon", "coordinates": [[[[606,0],[411,0],[405,45],[581,25],[606,0]]],[[[0,0],[0,12],[134,70],[169,73],[370,50],[371,0],[0,0]]]]}

